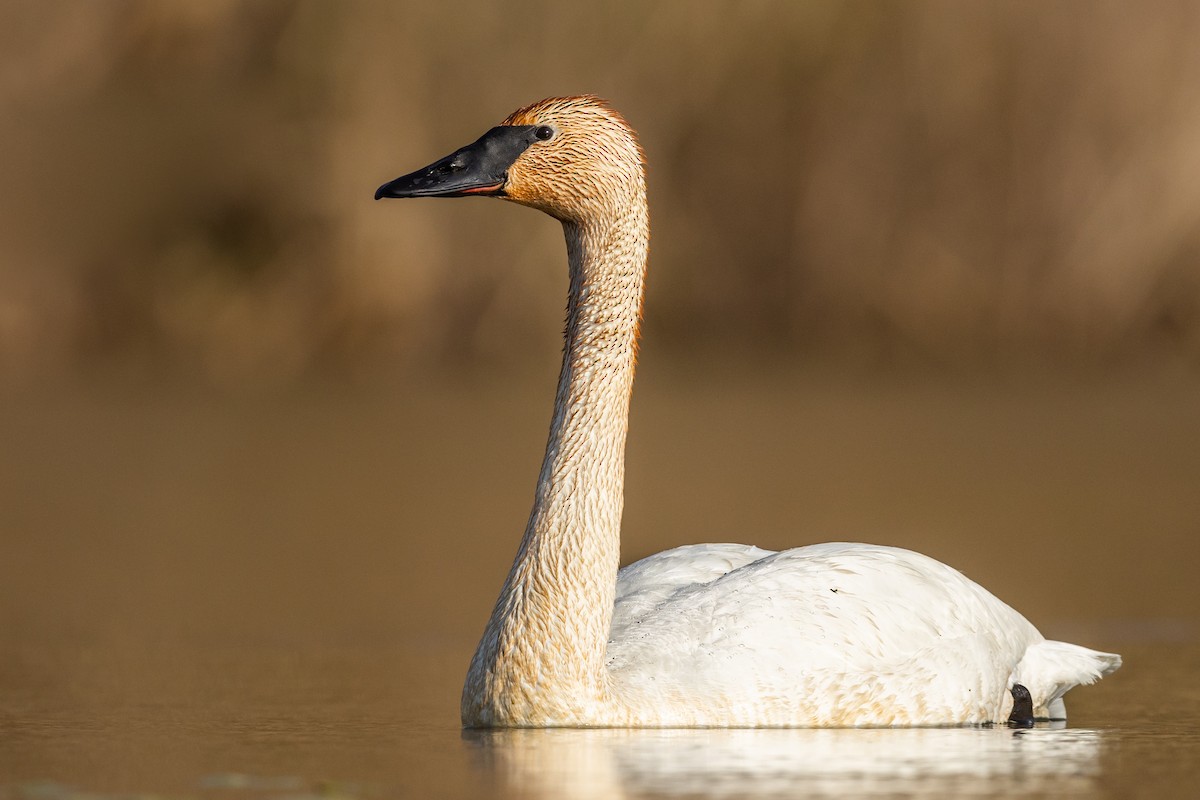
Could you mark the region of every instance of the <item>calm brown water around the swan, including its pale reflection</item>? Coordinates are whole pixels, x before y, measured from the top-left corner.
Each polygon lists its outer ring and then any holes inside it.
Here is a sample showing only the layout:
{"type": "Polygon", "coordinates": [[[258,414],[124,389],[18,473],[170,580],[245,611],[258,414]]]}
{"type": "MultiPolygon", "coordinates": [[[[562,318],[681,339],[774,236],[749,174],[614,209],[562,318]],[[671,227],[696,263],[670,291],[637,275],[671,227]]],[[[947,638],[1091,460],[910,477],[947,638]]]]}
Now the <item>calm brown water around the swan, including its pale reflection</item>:
{"type": "Polygon", "coordinates": [[[552,373],[8,392],[0,799],[1195,796],[1200,381],[652,366],[626,560],[901,545],[1124,668],[1061,728],[463,733],[552,373]]]}

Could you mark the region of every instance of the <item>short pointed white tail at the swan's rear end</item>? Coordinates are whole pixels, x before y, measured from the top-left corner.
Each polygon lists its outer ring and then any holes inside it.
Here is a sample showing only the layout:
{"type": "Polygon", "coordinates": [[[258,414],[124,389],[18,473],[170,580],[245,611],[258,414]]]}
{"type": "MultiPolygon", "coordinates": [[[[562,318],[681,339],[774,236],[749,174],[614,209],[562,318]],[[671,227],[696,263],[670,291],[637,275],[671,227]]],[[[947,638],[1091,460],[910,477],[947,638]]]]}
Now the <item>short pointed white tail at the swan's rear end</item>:
{"type": "Polygon", "coordinates": [[[1066,720],[1062,696],[1075,686],[1094,684],[1117,670],[1121,656],[1088,650],[1078,644],[1042,640],[1025,651],[1013,672],[1013,682],[1030,690],[1033,716],[1039,720],[1066,720]]]}

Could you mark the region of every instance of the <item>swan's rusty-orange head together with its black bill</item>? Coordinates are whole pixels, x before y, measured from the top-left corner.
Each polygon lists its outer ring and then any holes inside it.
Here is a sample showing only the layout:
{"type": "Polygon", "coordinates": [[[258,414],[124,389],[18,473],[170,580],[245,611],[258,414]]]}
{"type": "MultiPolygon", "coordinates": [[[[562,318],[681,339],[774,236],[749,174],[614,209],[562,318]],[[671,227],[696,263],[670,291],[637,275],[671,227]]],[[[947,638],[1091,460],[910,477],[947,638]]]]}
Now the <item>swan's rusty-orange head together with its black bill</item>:
{"type": "Polygon", "coordinates": [[[551,97],[473,144],[384,184],[384,197],[499,197],[566,222],[611,216],[646,192],[634,130],[598,97],[551,97]]]}

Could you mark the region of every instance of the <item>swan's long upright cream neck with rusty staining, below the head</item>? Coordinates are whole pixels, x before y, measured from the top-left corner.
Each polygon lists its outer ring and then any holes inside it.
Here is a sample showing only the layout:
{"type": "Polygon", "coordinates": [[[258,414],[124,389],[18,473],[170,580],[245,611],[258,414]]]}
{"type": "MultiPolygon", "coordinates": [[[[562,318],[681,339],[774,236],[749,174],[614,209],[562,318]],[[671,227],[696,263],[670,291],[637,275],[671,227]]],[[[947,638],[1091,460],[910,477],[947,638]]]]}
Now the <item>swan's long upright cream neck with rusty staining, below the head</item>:
{"type": "Polygon", "coordinates": [[[607,697],[625,431],[648,223],[644,188],[564,222],[566,348],[533,512],[463,687],[468,726],[571,724],[607,697]]]}

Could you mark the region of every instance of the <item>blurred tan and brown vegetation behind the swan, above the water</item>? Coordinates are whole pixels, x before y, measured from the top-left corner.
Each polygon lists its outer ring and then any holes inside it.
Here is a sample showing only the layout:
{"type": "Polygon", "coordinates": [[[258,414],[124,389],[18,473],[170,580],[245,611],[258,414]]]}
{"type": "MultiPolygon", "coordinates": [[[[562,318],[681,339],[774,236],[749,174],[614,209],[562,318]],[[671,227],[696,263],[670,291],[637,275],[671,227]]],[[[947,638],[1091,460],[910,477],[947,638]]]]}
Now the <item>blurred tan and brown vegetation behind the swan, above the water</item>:
{"type": "Polygon", "coordinates": [[[558,227],[377,185],[553,94],[642,134],[648,335],[1200,362],[1200,5],[0,5],[0,368],[517,360],[558,227]]]}

